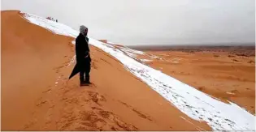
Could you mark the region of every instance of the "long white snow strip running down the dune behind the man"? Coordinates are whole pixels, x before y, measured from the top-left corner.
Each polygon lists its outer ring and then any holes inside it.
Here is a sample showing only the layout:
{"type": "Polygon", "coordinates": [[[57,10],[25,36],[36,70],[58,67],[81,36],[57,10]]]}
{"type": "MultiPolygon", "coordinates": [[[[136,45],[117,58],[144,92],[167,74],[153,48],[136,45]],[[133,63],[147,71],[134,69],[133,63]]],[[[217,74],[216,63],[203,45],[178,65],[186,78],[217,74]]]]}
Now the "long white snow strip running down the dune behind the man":
{"type": "MultiPolygon", "coordinates": [[[[59,35],[76,37],[79,33],[62,23],[56,23],[37,15],[25,14],[24,18],[59,35]]],[[[165,75],[160,70],[154,70],[129,57],[129,55],[143,54],[143,52],[128,48],[118,49],[90,37],[89,44],[111,54],[124,64],[126,70],[148,84],[181,112],[194,120],[206,121],[213,130],[255,130],[255,116],[237,104],[232,102],[225,104],[165,75]]]]}

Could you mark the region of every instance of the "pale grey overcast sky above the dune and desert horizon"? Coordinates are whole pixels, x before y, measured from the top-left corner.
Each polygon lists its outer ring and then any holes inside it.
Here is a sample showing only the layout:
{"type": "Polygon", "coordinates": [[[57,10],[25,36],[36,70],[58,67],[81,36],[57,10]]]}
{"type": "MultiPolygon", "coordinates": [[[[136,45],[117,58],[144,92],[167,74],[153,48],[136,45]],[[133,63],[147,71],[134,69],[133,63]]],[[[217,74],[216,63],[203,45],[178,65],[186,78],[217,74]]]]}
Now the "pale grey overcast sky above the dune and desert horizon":
{"type": "Polygon", "coordinates": [[[1,0],[123,45],[254,43],[254,0],[1,0]]]}

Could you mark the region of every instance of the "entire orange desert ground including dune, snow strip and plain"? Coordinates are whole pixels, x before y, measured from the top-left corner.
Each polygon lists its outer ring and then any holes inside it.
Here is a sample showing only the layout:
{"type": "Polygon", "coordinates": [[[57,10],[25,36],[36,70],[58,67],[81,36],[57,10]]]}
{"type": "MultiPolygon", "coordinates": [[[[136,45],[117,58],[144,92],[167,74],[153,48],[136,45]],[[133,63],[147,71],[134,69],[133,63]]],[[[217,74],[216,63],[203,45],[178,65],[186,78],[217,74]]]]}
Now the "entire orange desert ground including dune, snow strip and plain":
{"type": "Polygon", "coordinates": [[[93,84],[80,87],[68,80],[75,30],[1,13],[1,130],[254,130],[254,48],[139,51],[90,38],[93,84]]]}

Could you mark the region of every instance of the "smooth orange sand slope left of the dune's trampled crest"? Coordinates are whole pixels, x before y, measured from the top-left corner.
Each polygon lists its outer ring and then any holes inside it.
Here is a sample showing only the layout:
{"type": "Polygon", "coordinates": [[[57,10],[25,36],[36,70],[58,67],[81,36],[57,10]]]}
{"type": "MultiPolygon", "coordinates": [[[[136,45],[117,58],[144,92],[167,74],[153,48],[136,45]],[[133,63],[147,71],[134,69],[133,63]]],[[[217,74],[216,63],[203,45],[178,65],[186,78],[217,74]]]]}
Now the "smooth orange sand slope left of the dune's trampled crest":
{"type": "Polygon", "coordinates": [[[22,128],[41,92],[54,83],[54,67],[71,53],[66,36],[2,11],[2,129],[22,128]]]}

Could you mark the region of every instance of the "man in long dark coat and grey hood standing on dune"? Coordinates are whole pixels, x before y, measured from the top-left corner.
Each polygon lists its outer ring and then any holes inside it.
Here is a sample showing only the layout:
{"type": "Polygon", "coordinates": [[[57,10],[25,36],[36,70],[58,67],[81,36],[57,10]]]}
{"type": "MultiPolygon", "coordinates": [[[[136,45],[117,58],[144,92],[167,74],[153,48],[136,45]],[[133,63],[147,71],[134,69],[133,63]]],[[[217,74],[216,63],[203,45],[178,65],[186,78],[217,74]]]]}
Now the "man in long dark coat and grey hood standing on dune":
{"type": "Polygon", "coordinates": [[[88,28],[80,26],[80,34],[76,37],[76,63],[80,70],[80,86],[89,84],[91,57],[89,55],[88,28]]]}

